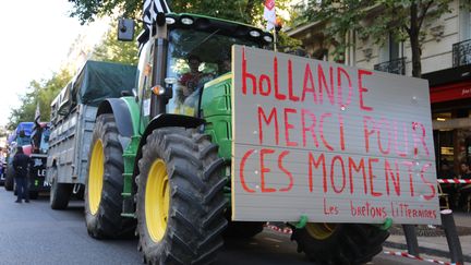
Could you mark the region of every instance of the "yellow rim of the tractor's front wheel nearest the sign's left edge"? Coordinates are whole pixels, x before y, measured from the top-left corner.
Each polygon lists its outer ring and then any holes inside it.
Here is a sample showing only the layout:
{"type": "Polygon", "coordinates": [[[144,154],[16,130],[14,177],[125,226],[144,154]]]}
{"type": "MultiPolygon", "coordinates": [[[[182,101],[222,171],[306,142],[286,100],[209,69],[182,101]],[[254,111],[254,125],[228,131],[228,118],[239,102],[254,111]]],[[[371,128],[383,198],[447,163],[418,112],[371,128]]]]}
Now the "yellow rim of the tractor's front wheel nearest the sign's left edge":
{"type": "Polygon", "coordinates": [[[162,159],[150,166],[145,189],[145,216],[147,231],[154,242],[164,238],[170,205],[170,185],[167,167],[162,159]]]}

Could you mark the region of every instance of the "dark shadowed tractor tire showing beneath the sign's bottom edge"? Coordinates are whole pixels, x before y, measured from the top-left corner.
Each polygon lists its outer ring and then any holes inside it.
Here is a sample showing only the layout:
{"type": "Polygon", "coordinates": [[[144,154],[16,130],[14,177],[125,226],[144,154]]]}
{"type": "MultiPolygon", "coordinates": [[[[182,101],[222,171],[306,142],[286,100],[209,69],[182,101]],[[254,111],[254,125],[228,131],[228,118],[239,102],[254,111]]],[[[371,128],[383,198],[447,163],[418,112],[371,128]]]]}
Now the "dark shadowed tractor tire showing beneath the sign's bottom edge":
{"type": "Polygon", "coordinates": [[[316,264],[364,264],[383,250],[389,232],[363,224],[307,224],[291,240],[316,264]],[[326,226],[324,226],[326,225],[326,226]]]}

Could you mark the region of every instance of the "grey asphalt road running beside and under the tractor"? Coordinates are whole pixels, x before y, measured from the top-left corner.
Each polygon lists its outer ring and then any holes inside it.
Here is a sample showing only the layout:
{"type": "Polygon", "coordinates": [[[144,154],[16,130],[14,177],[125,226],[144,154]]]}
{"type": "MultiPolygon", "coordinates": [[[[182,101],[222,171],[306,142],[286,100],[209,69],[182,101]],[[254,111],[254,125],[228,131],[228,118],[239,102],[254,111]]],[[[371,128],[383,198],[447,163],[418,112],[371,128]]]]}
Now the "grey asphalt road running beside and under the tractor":
{"type": "MultiPolygon", "coordinates": [[[[52,210],[48,197],[16,204],[0,188],[0,264],[142,264],[136,240],[88,237],[83,202],[52,210]]],[[[265,229],[249,241],[229,240],[216,264],[312,264],[295,251],[288,234],[265,229]]],[[[379,254],[371,264],[430,264],[379,254]]]]}

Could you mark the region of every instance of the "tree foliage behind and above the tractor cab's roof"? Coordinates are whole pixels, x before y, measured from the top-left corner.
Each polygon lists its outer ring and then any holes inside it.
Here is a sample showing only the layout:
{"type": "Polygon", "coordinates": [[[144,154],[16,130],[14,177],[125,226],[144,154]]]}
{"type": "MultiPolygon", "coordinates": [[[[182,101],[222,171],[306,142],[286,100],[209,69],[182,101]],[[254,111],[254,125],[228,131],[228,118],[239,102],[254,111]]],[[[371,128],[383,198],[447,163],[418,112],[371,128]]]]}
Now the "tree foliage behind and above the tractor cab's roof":
{"type": "MultiPolygon", "coordinates": [[[[95,16],[116,15],[117,12],[125,17],[141,19],[144,0],[73,0],[72,2],[74,5],[71,16],[78,17],[82,23],[88,23],[92,22],[95,16]]],[[[203,14],[258,26],[262,26],[265,23],[262,17],[264,8],[263,0],[168,0],[167,2],[172,12],[177,13],[203,14]]],[[[289,3],[289,0],[277,0],[277,10],[290,11],[289,3]]],[[[290,38],[283,33],[280,34],[278,43],[280,47],[287,48],[300,46],[300,41],[290,38]]],[[[98,47],[96,52],[94,52],[94,58],[106,61],[132,63],[133,58],[137,59],[137,52],[135,52],[135,57],[133,57],[133,49],[131,49],[132,45],[134,44],[119,44],[116,41],[116,32],[109,32],[104,46],[98,47]],[[118,55],[118,52],[113,51],[114,49],[121,49],[121,52],[124,50],[124,55],[122,58],[119,58],[119,60],[112,56],[118,55]]]]}

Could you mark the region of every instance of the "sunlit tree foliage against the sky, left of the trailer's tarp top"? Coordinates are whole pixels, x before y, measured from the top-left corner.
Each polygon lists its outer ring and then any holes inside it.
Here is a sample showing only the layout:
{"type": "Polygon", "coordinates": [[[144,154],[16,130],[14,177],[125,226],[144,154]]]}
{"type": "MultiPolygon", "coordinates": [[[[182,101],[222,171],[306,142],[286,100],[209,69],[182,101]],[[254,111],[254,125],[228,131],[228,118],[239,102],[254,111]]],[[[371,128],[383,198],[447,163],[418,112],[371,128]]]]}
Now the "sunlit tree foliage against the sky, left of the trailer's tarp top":
{"type": "Polygon", "coordinates": [[[41,120],[48,121],[50,117],[50,104],[59,94],[60,89],[67,85],[72,75],[67,70],[53,73],[49,80],[32,81],[25,95],[20,96],[22,106],[15,108],[10,113],[10,122],[7,127],[10,130],[16,128],[22,121],[34,121],[36,106],[39,103],[41,120]]]}

